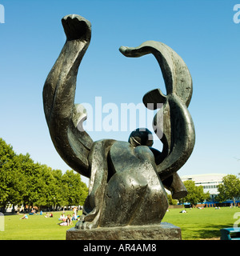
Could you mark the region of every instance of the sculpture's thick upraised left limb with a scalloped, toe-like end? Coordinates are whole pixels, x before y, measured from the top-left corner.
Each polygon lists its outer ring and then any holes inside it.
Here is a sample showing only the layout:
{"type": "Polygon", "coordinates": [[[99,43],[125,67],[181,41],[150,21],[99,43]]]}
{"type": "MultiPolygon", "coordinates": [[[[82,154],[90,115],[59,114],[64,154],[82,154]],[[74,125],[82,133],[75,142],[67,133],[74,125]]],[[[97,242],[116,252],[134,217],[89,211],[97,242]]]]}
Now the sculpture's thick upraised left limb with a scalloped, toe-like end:
{"type": "Polygon", "coordinates": [[[62,18],[62,26],[66,43],[43,88],[46,122],[58,154],[79,174],[90,177],[88,155],[93,141],[86,131],[77,129],[78,119],[86,114],[74,105],[74,97],[78,66],[90,44],[91,26],[75,14],[62,18]]]}

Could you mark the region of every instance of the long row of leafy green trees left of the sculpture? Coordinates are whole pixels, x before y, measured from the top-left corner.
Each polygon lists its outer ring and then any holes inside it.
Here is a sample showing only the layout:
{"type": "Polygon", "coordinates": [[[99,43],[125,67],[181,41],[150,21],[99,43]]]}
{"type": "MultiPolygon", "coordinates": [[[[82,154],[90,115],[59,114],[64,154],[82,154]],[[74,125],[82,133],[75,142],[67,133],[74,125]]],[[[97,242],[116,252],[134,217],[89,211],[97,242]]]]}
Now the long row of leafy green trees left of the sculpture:
{"type": "Polygon", "coordinates": [[[81,176],[73,170],[53,170],[34,162],[30,154],[16,154],[13,146],[0,138],[0,208],[14,206],[83,205],[88,188],[81,176]]]}

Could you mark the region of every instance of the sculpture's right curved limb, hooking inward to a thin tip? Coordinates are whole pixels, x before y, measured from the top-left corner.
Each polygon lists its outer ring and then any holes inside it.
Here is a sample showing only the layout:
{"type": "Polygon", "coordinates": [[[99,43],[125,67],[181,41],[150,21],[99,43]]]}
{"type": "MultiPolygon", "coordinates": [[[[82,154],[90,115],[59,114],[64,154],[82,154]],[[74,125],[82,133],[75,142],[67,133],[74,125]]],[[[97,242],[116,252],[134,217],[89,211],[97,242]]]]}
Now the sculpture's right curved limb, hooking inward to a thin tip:
{"type": "Polygon", "coordinates": [[[147,41],[136,48],[121,46],[119,50],[126,57],[154,54],[162,70],[167,95],[155,89],[145,94],[142,100],[152,110],[158,108],[158,103],[163,103],[163,110],[154,117],[154,129],[163,143],[162,159],[157,168],[164,180],[185,164],[194,149],[194,123],[187,110],[193,91],[190,71],[182,58],[162,42],[147,41]],[[160,133],[160,137],[157,130],[161,130],[162,120],[163,136],[160,133]]]}

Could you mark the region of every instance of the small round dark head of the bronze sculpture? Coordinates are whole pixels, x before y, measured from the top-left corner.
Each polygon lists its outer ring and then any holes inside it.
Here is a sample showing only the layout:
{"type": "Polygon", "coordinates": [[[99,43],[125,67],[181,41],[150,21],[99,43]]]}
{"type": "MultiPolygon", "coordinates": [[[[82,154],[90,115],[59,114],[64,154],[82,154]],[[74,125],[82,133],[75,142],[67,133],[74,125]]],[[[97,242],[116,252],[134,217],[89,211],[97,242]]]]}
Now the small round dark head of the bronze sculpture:
{"type": "Polygon", "coordinates": [[[146,128],[138,128],[131,132],[128,142],[133,146],[153,146],[153,134],[146,128]]]}

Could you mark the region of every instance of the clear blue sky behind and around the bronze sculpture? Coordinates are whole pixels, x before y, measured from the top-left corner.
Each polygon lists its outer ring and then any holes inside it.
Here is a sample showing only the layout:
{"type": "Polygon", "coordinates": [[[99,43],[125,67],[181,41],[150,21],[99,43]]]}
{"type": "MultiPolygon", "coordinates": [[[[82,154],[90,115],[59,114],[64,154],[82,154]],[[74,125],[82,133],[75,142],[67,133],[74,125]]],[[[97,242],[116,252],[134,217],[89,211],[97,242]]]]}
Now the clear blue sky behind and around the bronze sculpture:
{"type": "MultiPolygon", "coordinates": [[[[148,90],[164,91],[153,56],[126,58],[118,51],[147,40],[164,42],[183,58],[194,82],[189,110],[196,144],[178,174],[240,173],[240,23],[233,20],[238,3],[0,0],[0,137],[35,162],[70,169],[50,140],[42,88],[66,40],[61,18],[80,14],[92,23],[92,39],[80,66],[76,103],[93,104],[101,96],[102,105],[138,104],[148,90]]],[[[130,132],[89,134],[126,141],[130,132]]]]}

